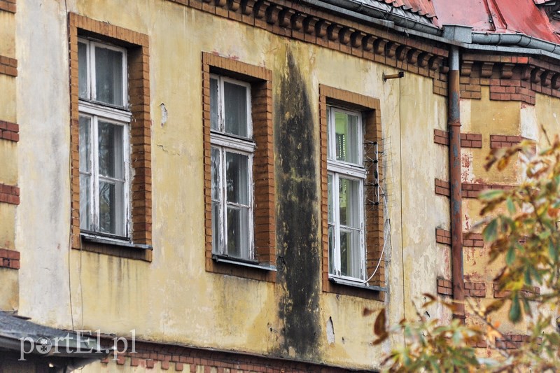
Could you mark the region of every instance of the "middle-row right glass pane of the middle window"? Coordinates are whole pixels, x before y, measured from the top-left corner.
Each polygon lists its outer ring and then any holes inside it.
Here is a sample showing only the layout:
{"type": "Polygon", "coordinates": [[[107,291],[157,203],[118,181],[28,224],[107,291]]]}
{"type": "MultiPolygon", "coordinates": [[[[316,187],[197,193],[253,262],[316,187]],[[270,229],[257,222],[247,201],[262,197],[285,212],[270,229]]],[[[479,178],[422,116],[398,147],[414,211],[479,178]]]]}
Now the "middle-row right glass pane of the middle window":
{"type": "Polygon", "coordinates": [[[225,162],[225,182],[228,192],[228,202],[235,202],[248,206],[248,157],[246,155],[226,152],[225,162]]]}

